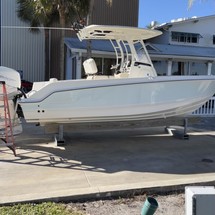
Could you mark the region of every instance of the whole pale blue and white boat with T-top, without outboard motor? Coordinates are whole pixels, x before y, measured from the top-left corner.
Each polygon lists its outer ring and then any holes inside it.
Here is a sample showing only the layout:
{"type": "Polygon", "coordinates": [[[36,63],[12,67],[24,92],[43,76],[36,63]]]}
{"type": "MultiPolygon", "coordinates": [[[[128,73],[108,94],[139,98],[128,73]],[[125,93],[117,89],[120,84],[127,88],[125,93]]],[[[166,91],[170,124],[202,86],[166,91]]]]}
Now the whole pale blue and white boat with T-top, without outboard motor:
{"type": "Polygon", "coordinates": [[[36,82],[21,98],[27,122],[107,122],[182,116],[215,93],[214,76],[157,76],[143,40],[159,31],[92,25],[78,32],[80,40],[110,40],[116,52],[113,75],[97,75],[93,59],[83,65],[86,79],[36,82]]]}

